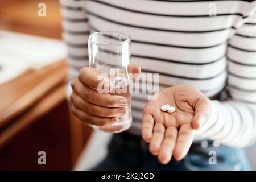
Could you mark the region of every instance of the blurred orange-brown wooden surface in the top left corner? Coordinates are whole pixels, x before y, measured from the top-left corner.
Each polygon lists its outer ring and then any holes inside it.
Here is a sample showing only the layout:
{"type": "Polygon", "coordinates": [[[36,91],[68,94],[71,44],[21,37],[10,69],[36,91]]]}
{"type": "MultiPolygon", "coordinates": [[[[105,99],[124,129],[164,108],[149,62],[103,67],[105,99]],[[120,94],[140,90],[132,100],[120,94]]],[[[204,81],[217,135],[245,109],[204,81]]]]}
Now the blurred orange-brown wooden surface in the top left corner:
{"type": "Polygon", "coordinates": [[[59,0],[1,0],[0,29],[61,39],[59,0]],[[46,16],[38,16],[39,3],[45,3],[46,16]]]}

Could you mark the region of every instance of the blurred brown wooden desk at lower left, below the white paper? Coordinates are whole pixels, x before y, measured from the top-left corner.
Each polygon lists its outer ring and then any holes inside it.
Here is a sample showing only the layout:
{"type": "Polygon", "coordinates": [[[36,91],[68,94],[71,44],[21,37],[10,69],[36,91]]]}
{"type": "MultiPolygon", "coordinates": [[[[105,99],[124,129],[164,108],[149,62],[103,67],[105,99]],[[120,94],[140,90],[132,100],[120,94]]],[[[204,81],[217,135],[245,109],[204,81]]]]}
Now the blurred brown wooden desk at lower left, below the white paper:
{"type": "Polygon", "coordinates": [[[0,85],[0,169],[72,169],[92,130],[68,108],[66,75],[59,61],[0,85]]]}

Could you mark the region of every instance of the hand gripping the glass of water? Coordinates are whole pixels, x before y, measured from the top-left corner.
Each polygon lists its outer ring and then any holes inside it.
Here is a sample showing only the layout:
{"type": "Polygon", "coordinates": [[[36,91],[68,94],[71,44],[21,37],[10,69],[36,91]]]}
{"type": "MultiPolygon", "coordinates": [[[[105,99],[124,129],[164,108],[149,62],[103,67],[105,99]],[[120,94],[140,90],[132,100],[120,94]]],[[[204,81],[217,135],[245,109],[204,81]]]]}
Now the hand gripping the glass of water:
{"type": "MultiPolygon", "coordinates": [[[[129,65],[128,72],[131,76],[136,76],[141,72],[141,68],[137,65],[129,65]]],[[[117,122],[118,117],[126,113],[127,100],[122,96],[108,94],[113,86],[109,79],[100,80],[99,75],[100,72],[95,68],[80,69],[79,76],[71,83],[72,111],[80,121],[96,126],[106,126],[117,122]],[[104,88],[108,89],[106,93],[97,90],[102,82],[104,82],[104,88]]]]}

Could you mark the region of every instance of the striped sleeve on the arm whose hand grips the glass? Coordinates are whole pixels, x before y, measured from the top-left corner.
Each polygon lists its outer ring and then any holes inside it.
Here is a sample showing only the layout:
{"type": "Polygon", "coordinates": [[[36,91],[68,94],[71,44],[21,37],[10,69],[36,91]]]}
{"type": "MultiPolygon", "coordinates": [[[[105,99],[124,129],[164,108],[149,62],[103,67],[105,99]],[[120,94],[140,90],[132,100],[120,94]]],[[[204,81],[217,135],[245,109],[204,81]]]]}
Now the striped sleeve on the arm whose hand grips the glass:
{"type": "Polygon", "coordinates": [[[89,65],[87,38],[89,26],[84,7],[85,0],[60,0],[63,40],[68,49],[68,85],[67,97],[72,88],[70,82],[76,78],[79,69],[89,65]]]}

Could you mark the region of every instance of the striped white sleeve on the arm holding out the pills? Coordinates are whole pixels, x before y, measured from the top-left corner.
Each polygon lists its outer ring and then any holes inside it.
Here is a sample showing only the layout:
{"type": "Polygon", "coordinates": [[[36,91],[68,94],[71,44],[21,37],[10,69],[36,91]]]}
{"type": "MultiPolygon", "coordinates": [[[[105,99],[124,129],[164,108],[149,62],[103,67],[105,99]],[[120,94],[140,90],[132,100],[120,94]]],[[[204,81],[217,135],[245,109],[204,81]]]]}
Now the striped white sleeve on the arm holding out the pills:
{"type": "Polygon", "coordinates": [[[256,138],[256,14],[243,20],[228,44],[228,100],[212,102],[212,115],[196,133],[233,147],[256,138]]]}

